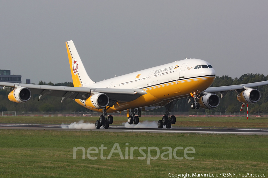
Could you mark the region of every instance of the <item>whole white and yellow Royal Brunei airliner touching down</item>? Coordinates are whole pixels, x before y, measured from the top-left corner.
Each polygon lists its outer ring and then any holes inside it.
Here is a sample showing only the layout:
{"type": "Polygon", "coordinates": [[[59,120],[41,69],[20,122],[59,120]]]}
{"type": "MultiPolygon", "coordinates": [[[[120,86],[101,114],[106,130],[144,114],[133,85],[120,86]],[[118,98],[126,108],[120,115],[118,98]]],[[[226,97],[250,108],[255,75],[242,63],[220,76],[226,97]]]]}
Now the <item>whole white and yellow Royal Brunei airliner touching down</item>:
{"type": "Polygon", "coordinates": [[[45,96],[68,98],[93,111],[102,113],[96,121],[96,128],[105,129],[113,123],[108,113],[127,111],[129,124],[138,124],[141,111],[165,107],[158,128],[171,128],[176,117],[170,116],[171,109],[180,98],[189,98],[191,109],[214,109],[228,91],[235,90],[237,100],[243,104],[256,103],[261,98],[257,87],[267,85],[268,81],[210,87],[215,80],[215,71],[210,63],[200,59],[184,59],[161,66],[125,74],[111,79],[94,82],[88,76],[73,41],[66,42],[68,59],[74,87],[32,85],[0,82],[4,90],[11,91],[10,101],[25,103],[32,94],[39,100],[45,96]]]}

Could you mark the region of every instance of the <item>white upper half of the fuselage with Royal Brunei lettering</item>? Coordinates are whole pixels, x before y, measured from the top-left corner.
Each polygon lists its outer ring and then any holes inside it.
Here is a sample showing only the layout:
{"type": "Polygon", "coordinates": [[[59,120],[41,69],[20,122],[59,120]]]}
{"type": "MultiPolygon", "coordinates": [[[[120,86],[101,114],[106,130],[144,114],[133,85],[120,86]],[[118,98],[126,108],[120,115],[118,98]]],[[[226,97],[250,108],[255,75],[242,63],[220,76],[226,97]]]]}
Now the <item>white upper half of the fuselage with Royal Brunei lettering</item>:
{"type": "Polygon", "coordinates": [[[197,65],[210,65],[210,64],[200,59],[184,59],[181,61],[175,61],[161,66],[156,66],[149,69],[133,72],[130,74],[125,74],[118,77],[102,80],[92,85],[87,85],[83,87],[143,89],[148,88],[152,85],[159,85],[161,83],[170,82],[172,80],[180,80],[180,79],[183,80],[186,78],[200,77],[206,75],[215,76],[215,71],[213,68],[201,67],[200,69],[194,69],[194,67],[197,65]],[[184,66],[184,69],[182,69],[183,64],[186,65],[184,66]],[[174,69],[175,66],[178,66],[178,68],[174,69]],[[138,74],[140,75],[138,76],[138,74]]]}

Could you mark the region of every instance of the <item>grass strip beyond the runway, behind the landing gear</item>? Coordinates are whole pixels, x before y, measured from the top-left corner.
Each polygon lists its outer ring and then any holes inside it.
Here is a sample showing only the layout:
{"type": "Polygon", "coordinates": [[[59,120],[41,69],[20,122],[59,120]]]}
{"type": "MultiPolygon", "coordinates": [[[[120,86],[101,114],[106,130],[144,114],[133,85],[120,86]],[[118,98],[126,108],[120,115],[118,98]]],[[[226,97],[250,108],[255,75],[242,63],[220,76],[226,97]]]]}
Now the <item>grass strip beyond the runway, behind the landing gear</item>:
{"type": "MultiPolygon", "coordinates": [[[[158,121],[161,117],[140,117],[140,122],[158,121]]],[[[0,117],[0,123],[45,123],[45,124],[70,124],[84,120],[84,122],[95,123],[99,117],[0,117]]],[[[114,117],[113,125],[122,125],[127,122],[127,117],[114,117]]],[[[175,126],[191,127],[217,127],[217,128],[268,128],[268,118],[256,117],[177,117],[175,126]]]]}

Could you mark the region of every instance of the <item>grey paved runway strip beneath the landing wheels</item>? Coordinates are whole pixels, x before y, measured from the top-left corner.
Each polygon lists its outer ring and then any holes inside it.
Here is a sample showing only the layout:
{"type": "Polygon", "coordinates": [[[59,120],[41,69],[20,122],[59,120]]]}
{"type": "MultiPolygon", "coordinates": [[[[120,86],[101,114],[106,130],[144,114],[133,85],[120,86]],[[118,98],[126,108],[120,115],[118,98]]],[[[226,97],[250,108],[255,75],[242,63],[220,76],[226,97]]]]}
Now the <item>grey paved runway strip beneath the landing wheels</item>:
{"type": "Polygon", "coordinates": [[[173,127],[158,128],[126,128],[122,125],[110,125],[109,129],[73,129],[62,128],[53,124],[9,124],[1,123],[0,129],[31,129],[56,131],[106,131],[106,132],[151,132],[151,133],[197,133],[197,134],[239,134],[239,135],[268,135],[268,129],[258,128],[200,128],[200,127],[173,127]]]}

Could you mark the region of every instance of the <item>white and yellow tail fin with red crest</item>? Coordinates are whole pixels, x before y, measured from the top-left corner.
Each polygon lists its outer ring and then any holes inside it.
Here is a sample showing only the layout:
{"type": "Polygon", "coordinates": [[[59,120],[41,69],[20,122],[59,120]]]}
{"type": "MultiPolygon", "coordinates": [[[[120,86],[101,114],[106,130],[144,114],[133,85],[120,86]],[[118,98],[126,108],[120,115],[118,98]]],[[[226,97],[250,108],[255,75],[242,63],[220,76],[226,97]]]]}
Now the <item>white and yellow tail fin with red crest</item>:
{"type": "Polygon", "coordinates": [[[71,68],[71,74],[74,82],[74,87],[82,87],[95,83],[92,81],[83,66],[83,63],[77,53],[73,41],[66,42],[66,48],[71,68]]]}

